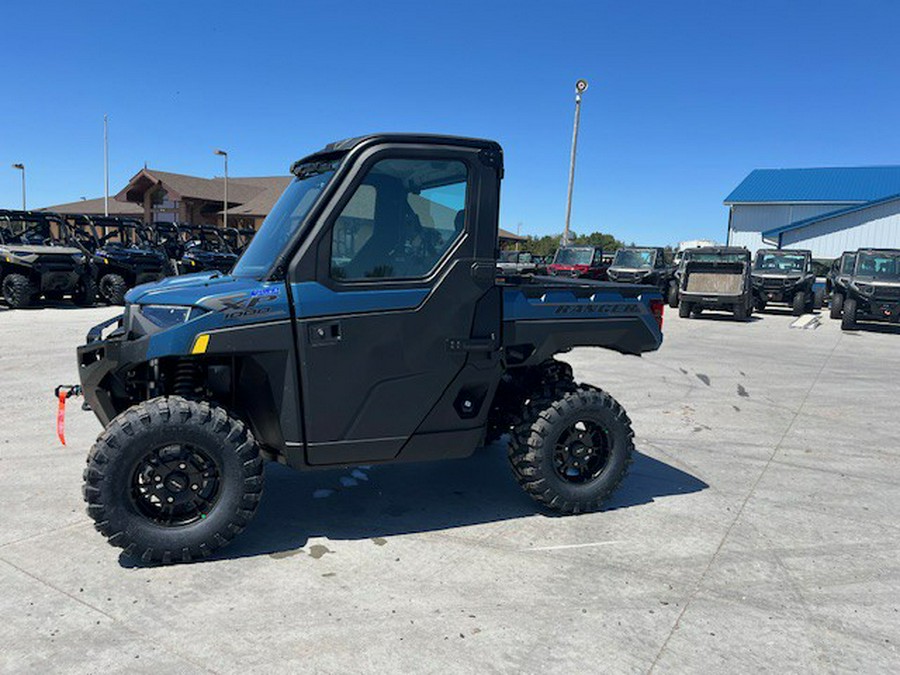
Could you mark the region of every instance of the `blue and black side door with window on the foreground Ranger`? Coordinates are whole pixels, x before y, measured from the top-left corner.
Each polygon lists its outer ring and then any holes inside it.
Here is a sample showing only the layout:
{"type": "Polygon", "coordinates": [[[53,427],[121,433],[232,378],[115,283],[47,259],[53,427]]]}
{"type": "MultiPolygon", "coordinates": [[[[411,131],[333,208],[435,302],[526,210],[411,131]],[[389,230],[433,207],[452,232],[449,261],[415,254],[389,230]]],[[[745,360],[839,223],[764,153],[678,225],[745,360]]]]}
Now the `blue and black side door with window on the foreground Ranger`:
{"type": "Polygon", "coordinates": [[[309,464],[393,459],[426,420],[471,429],[434,411],[499,344],[499,302],[476,316],[499,292],[497,170],[476,149],[388,146],[346,183],[291,287],[309,464]]]}

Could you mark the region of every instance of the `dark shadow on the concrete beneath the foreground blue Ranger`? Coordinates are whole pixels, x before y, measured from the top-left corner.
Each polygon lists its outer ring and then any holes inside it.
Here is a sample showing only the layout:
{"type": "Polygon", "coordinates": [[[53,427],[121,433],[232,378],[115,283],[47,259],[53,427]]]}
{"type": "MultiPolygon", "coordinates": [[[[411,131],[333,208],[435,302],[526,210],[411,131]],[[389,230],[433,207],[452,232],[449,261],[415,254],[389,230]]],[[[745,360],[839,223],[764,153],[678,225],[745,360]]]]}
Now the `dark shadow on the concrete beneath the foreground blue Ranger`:
{"type": "MultiPolygon", "coordinates": [[[[259,511],[247,529],[207,560],[293,555],[312,537],[330,541],[391,537],[550,514],[516,483],[505,448],[444,462],[297,472],[266,467],[259,511]]],[[[648,504],[707,488],[698,478],[636,452],[625,481],[604,510],[648,504]]],[[[550,516],[552,517],[552,516],[550,516]]],[[[312,552],[311,552],[312,554],[312,552]]],[[[122,567],[145,567],[119,557],[122,567]]]]}

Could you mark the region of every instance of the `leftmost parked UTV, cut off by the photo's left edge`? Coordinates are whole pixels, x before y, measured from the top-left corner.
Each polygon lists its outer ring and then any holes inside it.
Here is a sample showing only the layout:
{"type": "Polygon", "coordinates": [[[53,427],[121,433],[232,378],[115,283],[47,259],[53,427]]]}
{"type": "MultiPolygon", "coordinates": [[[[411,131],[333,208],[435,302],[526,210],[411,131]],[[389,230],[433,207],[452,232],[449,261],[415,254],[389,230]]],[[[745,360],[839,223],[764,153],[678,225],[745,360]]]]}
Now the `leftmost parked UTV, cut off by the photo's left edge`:
{"type": "Polygon", "coordinates": [[[42,211],[0,210],[0,287],[13,308],[67,295],[87,307],[96,295],[87,255],[62,218],[42,211]]]}

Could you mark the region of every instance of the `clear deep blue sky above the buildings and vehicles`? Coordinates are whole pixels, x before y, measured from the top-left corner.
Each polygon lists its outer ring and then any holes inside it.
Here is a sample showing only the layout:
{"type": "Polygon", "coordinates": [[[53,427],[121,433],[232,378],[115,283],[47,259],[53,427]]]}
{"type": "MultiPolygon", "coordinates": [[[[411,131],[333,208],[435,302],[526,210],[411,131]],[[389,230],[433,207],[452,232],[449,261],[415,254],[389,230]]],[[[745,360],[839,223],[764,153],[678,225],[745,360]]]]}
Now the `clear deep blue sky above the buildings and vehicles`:
{"type": "Polygon", "coordinates": [[[500,141],[501,223],[724,238],[753,168],[900,163],[900,3],[13,3],[0,69],[0,206],[111,191],[151,167],[284,174],[369,131],[500,141]]]}

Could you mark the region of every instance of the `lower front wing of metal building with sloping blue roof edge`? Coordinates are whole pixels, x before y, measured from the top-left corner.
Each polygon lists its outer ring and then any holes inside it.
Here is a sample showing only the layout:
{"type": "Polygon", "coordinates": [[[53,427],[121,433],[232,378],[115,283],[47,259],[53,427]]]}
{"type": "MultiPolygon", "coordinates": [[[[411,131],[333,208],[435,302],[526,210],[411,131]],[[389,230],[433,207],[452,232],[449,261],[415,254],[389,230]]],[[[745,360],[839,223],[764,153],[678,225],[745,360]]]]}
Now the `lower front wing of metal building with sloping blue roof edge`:
{"type": "Polygon", "coordinates": [[[900,201],[829,218],[782,235],[782,245],[812,249],[815,258],[837,258],[858,248],[900,248],[900,201]]]}

